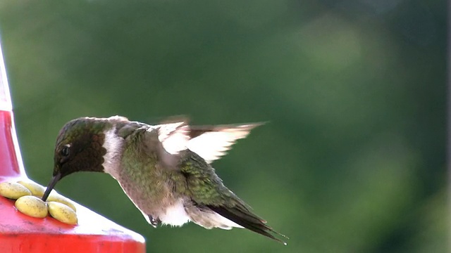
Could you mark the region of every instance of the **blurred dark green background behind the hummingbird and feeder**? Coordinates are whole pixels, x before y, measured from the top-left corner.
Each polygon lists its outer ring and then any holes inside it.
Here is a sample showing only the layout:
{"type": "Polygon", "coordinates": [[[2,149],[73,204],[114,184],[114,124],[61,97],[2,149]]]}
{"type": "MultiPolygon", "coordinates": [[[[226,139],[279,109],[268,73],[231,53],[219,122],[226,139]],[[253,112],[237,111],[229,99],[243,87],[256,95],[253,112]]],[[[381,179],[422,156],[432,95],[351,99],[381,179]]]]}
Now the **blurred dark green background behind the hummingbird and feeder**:
{"type": "Polygon", "coordinates": [[[449,252],[446,1],[1,1],[28,176],[47,185],[81,116],[269,123],[214,163],[283,246],[233,229],[149,226],[118,183],[64,195],[148,252],[449,252]]]}

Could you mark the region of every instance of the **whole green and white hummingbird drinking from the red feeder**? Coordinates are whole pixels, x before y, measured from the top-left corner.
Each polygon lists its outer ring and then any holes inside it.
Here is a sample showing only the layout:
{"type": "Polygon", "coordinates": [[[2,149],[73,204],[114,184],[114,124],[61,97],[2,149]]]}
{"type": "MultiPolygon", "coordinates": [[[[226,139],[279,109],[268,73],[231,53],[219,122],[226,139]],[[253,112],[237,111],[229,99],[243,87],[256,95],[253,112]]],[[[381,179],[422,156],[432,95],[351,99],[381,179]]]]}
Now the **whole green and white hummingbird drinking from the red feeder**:
{"type": "Polygon", "coordinates": [[[80,117],[56,138],[54,171],[42,200],[56,183],[78,171],[110,174],[144,219],[159,225],[247,228],[285,237],[224,186],[211,166],[261,123],[190,126],[186,119],[150,125],[125,117],[80,117]]]}

